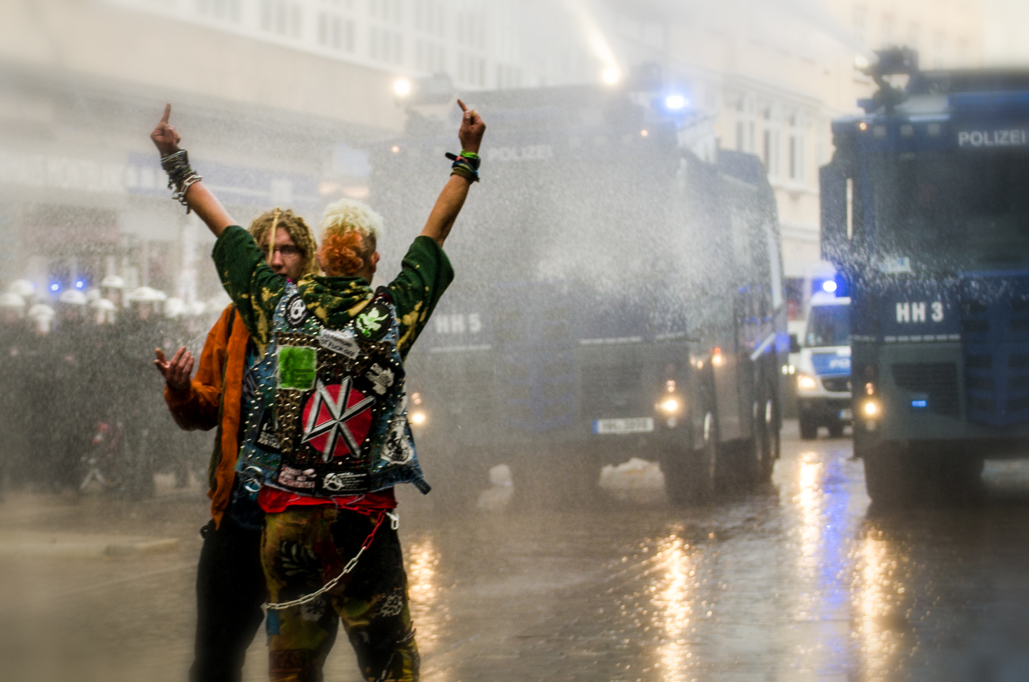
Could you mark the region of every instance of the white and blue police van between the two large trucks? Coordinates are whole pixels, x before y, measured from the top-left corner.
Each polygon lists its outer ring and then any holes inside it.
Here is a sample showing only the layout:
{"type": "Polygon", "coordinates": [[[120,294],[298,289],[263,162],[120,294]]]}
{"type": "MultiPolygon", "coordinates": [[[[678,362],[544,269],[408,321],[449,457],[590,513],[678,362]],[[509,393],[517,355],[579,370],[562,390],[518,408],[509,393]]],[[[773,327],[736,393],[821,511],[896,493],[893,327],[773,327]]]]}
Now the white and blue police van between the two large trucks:
{"type": "Polygon", "coordinates": [[[839,438],[851,423],[850,298],[830,293],[811,297],[808,328],[796,366],[801,437],[818,436],[818,427],[839,438]]]}

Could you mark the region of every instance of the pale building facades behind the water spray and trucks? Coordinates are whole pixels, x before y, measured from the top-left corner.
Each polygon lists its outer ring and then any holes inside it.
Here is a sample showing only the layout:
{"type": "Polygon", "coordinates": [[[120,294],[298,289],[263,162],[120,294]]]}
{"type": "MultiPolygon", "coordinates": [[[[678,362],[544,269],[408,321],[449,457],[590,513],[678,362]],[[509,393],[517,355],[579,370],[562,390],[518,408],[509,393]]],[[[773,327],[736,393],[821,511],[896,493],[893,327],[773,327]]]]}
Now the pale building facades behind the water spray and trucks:
{"type": "Polygon", "coordinates": [[[276,204],[313,219],[328,201],[366,194],[369,148],[404,124],[403,81],[445,75],[473,98],[616,82],[652,63],[705,119],[711,140],[696,149],[764,160],[800,313],[795,283],[826,267],[818,168],[832,153],[829,121],[873,89],[855,56],[907,44],[926,67],[975,66],[984,26],[997,26],[984,16],[1009,1],[3,3],[0,280],[117,272],[186,297],[216,288],[176,275],[207,237],[168,200],[146,139],[165,101],[241,220],[276,204]]]}

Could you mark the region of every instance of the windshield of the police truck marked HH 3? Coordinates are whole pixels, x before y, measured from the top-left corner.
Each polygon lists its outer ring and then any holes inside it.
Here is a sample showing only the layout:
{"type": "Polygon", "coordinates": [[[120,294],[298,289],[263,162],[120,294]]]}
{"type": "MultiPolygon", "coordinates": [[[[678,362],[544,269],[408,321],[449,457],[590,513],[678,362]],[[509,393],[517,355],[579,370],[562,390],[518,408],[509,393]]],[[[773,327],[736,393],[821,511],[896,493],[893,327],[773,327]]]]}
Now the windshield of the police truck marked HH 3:
{"type": "Polygon", "coordinates": [[[934,272],[1029,264],[1029,154],[877,154],[870,170],[879,258],[934,272]]]}

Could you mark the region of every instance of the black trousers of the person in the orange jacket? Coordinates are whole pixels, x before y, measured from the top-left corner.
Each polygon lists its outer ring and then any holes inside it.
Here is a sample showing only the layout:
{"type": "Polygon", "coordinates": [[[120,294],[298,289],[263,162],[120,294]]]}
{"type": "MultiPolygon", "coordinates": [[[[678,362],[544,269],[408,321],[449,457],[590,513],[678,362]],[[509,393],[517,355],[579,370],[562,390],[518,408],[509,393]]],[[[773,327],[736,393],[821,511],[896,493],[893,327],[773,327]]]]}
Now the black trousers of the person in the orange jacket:
{"type": "Polygon", "coordinates": [[[223,516],[201,530],[204,547],[197,567],[197,644],[190,682],[239,682],[247,647],[264,614],[260,531],[223,516]]]}

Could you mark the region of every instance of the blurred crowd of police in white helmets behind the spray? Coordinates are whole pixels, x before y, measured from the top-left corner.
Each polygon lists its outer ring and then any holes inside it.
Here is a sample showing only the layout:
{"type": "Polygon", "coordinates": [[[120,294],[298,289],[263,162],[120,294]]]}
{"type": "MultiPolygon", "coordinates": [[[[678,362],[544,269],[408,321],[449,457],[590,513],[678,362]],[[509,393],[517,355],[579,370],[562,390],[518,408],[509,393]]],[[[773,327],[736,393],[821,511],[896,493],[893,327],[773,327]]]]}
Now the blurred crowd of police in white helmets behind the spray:
{"type": "Polygon", "coordinates": [[[186,304],[117,276],[100,284],[40,292],[16,280],[0,294],[0,481],[9,487],[146,498],[155,473],[173,473],[180,488],[204,475],[210,435],[175,425],[152,362],[155,349],[199,355],[227,296],[186,304]]]}

